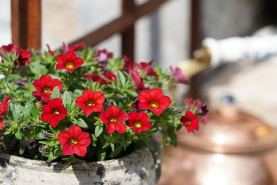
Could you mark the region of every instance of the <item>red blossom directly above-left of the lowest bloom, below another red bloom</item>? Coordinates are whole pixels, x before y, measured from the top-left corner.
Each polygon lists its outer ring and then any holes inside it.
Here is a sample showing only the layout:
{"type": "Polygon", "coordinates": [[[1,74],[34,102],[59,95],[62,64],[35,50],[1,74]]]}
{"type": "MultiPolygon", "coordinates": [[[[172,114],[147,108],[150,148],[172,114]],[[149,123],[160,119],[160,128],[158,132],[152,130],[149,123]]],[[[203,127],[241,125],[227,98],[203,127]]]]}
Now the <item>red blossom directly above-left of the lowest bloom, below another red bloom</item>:
{"type": "Polygon", "coordinates": [[[49,121],[51,127],[56,127],[60,120],[67,115],[66,108],[62,105],[62,99],[49,100],[42,107],[42,121],[49,121]]]}

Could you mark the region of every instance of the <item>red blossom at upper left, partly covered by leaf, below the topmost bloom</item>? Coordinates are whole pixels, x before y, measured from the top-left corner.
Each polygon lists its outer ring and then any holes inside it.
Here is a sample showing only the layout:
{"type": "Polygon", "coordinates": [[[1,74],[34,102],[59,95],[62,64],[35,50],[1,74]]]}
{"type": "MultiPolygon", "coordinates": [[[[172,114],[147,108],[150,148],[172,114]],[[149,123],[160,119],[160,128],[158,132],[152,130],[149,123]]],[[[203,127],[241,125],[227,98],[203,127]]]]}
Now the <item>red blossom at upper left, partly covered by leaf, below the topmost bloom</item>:
{"type": "Polygon", "coordinates": [[[52,94],[52,91],[55,87],[59,88],[62,91],[62,82],[57,79],[53,79],[51,76],[43,75],[39,80],[33,82],[35,89],[40,93],[52,94]]]}

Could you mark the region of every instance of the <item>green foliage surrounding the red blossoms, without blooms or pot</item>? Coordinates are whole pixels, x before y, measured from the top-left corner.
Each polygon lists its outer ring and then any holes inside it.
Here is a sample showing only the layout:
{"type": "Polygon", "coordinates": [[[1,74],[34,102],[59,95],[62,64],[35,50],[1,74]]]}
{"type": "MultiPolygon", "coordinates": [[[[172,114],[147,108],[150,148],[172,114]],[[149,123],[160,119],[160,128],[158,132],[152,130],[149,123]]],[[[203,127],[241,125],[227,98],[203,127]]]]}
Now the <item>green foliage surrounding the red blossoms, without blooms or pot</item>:
{"type": "MultiPolygon", "coordinates": [[[[132,104],[138,100],[141,89],[138,89],[129,74],[129,71],[123,68],[124,60],[122,58],[108,58],[107,66],[103,67],[96,55],[96,51],[89,47],[82,47],[76,54],[82,58],[84,64],[73,72],[66,70],[57,70],[56,59],[60,51],[56,51],[53,56],[48,52],[32,50],[30,64],[15,68],[14,61],[18,54],[12,52],[7,54],[0,51],[3,55],[3,63],[0,63],[0,74],[5,78],[0,79],[0,98],[3,100],[6,96],[11,96],[8,102],[8,112],[2,116],[5,120],[3,129],[3,139],[8,150],[17,152],[32,159],[43,159],[46,161],[65,161],[65,166],[75,162],[84,161],[102,161],[123,156],[126,150],[132,150],[136,146],[148,146],[154,150],[151,137],[159,132],[163,138],[163,146],[171,144],[177,146],[176,130],[181,128],[179,119],[183,114],[174,114],[180,107],[172,105],[157,116],[150,110],[143,110],[149,116],[152,125],[150,130],[141,133],[134,132],[132,127],[127,126],[125,133],[113,132],[107,133],[105,123],[99,118],[100,112],[93,112],[89,116],[84,116],[82,109],[76,105],[75,100],[82,95],[85,89],[100,91],[105,95],[105,104],[103,111],[107,110],[109,105],[116,105],[123,109],[126,114],[138,111],[132,107],[132,104]],[[105,71],[116,75],[117,80],[105,78],[102,74],[105,71]],[[100,85],[99,82],[92,82],[84,78],[85,73],[98,74],[109,84],[100,85]],[[33,82],[42,75],[50,75],[52,78],[62,81],[62,91],[55,87],[52,89],[51,100],[62,98],[63,106],[66,108],[67,115],[60,121],[57,127],[51,127],[48,122],[42,121],[42,108],[44,102],[32,96],[35,89],[33,82]],[[26,82],[25,85],[18,85],[17,80],[21,78],[26,82]],[[91,136],[91,144],[87,147],[87,155],[78,157],[76,155],[64,156],[62,154],[62,145],[58,141],[58,135],[68,129],[71,125],[78,125],[83,132],[88,132],[91,136]],[[36,146],[30,148],[28,141],[35,139],[36,146]]],[[[146,87],[161,88],[163,94],[166,94],[166,85],[174,85],[174,80],[170,73],[163,71],[160,67],[155,67],[154,71],[158,76],[147,76],[145,70],[134,68],[140,73],[140,78],[146,87]]],[[[123,121],[127,123],[127,121],[123,121]]]]}

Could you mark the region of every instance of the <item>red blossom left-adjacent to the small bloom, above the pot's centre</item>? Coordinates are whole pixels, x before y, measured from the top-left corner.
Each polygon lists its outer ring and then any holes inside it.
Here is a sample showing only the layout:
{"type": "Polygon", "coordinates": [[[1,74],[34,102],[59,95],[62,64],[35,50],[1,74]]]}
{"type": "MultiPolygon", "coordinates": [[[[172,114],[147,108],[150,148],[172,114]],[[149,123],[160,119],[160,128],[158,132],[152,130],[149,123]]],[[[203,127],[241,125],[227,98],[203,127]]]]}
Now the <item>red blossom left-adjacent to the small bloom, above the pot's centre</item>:
{"type": "Polygon", "coordinates": [[[127,119],[126,113],[123,109],[118,109],[118,107],[111,105],[108,107],[107,111],[101,112],[99,115],[103,123],[107,125],[107,133],[112,133],[115,130],[120,133],[126,131],[126,125],[118,121],[125,121],[127,119]]]}

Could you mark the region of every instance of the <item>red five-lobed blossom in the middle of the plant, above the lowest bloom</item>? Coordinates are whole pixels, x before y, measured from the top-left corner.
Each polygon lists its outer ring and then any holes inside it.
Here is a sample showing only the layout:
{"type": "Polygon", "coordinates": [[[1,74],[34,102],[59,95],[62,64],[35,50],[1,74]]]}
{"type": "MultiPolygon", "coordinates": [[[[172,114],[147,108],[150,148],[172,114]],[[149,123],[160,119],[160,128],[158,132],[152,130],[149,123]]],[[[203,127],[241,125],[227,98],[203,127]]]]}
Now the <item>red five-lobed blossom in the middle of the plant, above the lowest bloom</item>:
{"type": "Polygon", "coordinates": [[[84,115],[88,116],[92,112],[101,112],[104,101],[104,94],[87,89],[83,91],[82,96],[76,98],[75,103],[82,109],[84,115]]]}

